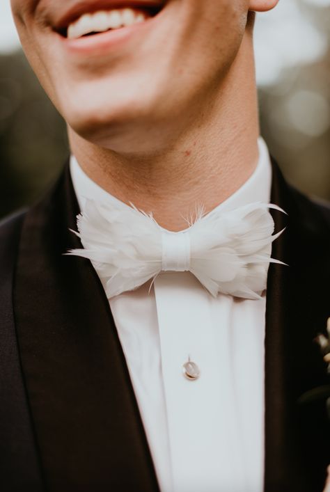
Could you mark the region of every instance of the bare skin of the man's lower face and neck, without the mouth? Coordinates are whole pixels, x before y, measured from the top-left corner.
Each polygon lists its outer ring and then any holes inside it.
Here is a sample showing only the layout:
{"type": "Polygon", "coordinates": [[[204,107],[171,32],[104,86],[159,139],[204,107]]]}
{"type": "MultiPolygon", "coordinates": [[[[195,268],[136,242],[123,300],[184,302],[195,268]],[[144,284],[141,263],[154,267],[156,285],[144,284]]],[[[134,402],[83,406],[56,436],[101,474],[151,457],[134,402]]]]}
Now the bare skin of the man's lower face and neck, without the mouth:
{"type": "Polygon", "coordinates": [[[79,54],[54,31],[77,0],[11,3],[26,56],[68,124],[81,167],[180,230],[196,204],[209,212],[256,168],[252,12],[277,1],[168,0],[116,48],[79,54]]]}

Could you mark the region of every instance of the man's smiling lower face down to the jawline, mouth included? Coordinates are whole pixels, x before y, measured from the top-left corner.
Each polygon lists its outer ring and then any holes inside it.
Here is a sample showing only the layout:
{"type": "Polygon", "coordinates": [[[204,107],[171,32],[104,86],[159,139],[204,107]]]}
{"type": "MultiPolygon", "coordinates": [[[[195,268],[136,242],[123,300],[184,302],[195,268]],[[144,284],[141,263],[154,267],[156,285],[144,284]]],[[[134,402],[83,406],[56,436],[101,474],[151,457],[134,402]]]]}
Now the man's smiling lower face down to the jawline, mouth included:
{"type": "Polygon", "coordinates": [[[212,100],[239,51],[249,1],[11,3],[24,51],[58,111],[75,132],[116,150],[123,132],[173,126],[212,100]]]}

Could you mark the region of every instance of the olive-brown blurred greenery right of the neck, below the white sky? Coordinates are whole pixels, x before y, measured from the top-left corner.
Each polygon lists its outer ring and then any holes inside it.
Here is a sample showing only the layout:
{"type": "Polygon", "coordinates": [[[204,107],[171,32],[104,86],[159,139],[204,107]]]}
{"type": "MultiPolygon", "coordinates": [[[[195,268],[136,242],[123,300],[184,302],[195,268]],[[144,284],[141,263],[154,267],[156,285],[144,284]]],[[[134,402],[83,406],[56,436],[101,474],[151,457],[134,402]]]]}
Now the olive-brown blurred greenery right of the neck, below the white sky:
{"type": "Polygon", "coordinates": [[[260,88],[262,136],[286,179],[330,201],[330,51],[326,58],[283,72],[260,88]]]}

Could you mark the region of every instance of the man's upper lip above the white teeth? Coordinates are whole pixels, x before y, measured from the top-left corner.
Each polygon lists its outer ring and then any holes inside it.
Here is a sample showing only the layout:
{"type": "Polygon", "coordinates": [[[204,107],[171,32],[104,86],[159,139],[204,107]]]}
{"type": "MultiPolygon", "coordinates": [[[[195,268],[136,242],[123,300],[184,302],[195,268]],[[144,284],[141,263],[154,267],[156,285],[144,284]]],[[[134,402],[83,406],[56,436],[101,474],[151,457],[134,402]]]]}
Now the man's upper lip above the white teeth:
{"type": "Polygon", "coordinates": [[[81,15],[97,12],[97,10],[111,10],[114,8],[141,8],[157,13],[165,5],[166,0],[78,0],[54,22],[54,29],[67,29],[72,22],[81,15]]]}

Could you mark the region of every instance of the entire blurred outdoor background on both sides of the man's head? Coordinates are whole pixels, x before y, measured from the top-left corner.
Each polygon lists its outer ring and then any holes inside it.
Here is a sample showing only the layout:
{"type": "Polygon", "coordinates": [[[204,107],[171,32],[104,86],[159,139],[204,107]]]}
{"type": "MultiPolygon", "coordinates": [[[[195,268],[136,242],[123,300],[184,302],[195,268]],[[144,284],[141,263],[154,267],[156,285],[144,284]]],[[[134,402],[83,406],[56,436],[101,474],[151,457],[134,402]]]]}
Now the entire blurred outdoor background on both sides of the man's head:
{"type": "MultiPolygon", "coordinates": [[[[32,203],[68,157],[65,124],[0,4],[0,216],[32,203]]],[[[281,0],[258,16],[262,135],[287,179],[330,200],[330,0],[281,0]]]]}

